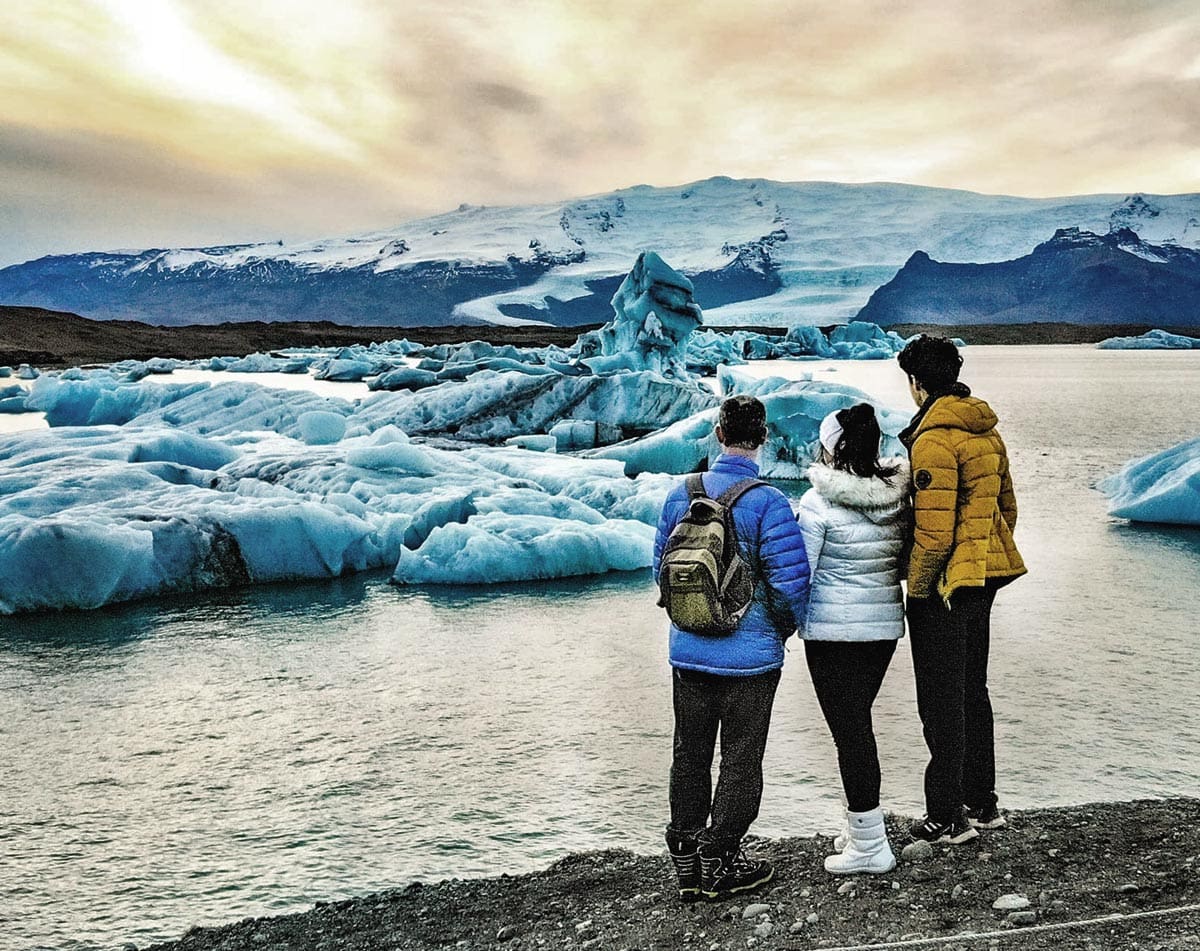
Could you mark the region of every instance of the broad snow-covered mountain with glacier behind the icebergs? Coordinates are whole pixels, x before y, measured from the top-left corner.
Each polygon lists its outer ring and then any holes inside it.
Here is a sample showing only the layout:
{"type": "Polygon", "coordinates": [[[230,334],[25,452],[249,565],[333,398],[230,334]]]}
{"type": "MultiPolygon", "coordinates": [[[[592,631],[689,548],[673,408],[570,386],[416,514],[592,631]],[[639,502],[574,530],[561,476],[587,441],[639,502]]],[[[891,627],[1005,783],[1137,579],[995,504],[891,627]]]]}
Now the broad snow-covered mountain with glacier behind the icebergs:
{"type": "Polygon", "coordinates": [[[1200,247],[1200,195],[1013,198],[715,178],[520,208],[463,205],[300,244],[60,255],[0,269],[0,303],[158,324],[605,321],[638,252],[692,279],[712,324],[851,319],[917,250],[1000,262],[1061,228],[1200,247]]]}

